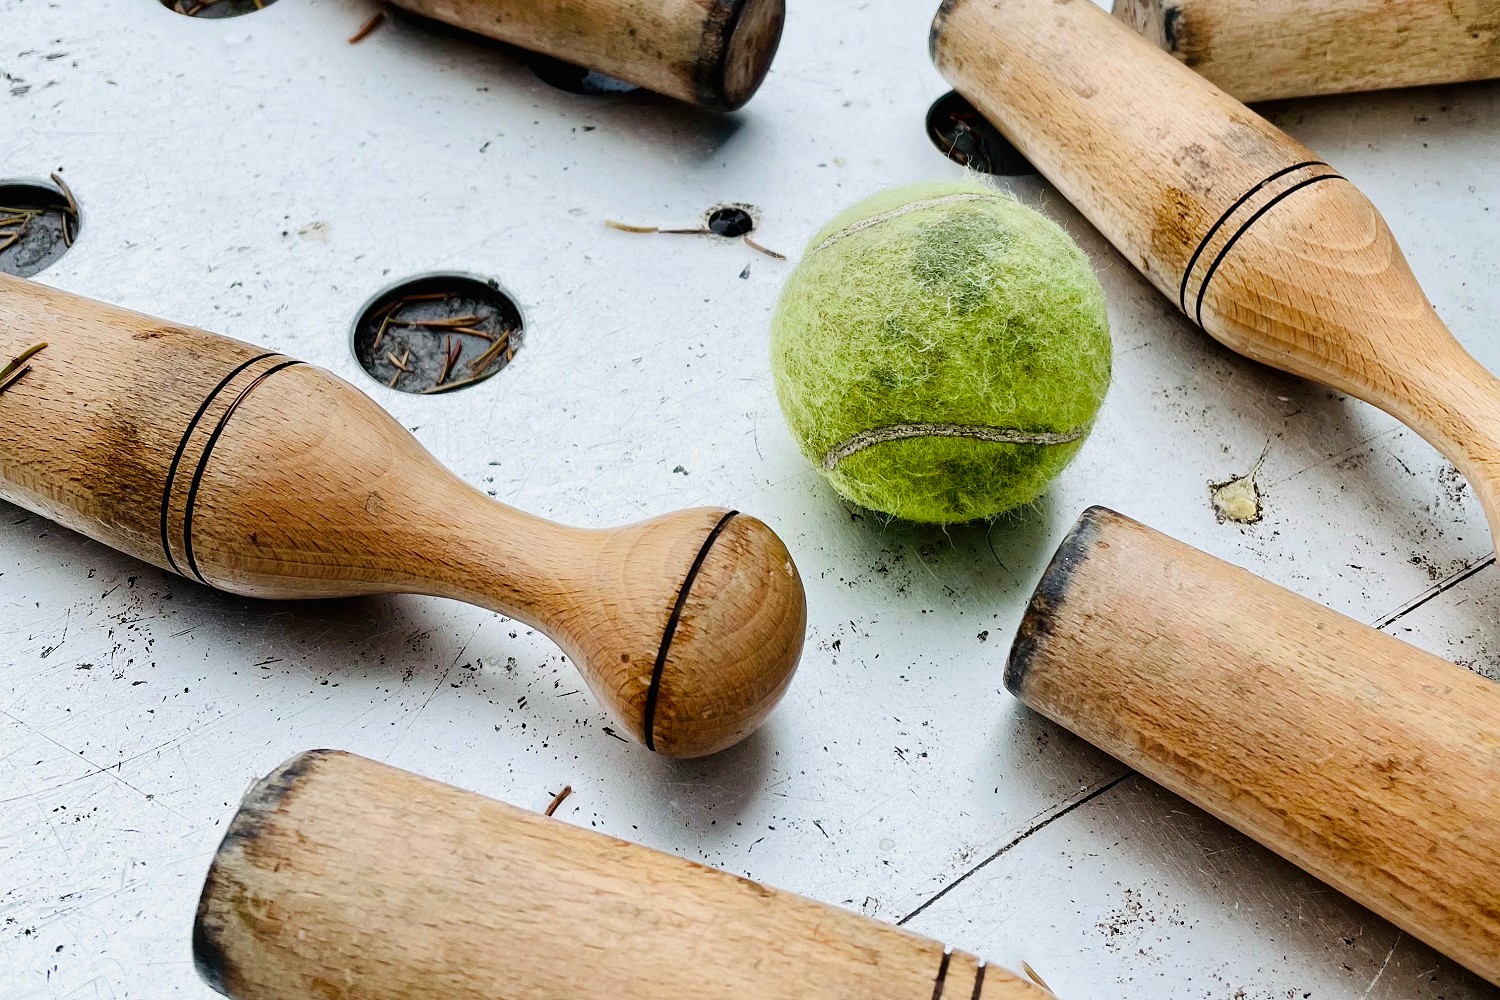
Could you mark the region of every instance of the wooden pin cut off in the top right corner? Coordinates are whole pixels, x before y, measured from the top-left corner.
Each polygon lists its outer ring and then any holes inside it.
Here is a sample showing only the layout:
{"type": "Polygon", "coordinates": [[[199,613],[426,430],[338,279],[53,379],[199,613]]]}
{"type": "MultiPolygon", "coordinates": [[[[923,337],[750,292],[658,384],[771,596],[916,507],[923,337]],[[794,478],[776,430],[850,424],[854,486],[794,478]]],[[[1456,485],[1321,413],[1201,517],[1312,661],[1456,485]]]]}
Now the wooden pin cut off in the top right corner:
{"type": "Polygon", "coordinates": [[[1500,76],[1500,0],[1114,0],[1240,100],[1500,76]]]}

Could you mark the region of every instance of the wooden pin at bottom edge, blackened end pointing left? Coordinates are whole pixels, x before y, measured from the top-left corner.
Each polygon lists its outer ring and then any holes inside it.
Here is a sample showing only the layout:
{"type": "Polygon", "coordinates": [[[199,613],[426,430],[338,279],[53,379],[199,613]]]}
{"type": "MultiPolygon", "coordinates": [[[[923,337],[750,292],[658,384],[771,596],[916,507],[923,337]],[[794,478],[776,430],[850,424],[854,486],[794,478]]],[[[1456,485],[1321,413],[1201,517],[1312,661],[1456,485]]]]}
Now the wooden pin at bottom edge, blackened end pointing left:
{"type": "Polygon", "coordinates": [[[236,1000],[1044,1000],[972,955],[333,751],[246,796],[194,927],[236,1000]]]}

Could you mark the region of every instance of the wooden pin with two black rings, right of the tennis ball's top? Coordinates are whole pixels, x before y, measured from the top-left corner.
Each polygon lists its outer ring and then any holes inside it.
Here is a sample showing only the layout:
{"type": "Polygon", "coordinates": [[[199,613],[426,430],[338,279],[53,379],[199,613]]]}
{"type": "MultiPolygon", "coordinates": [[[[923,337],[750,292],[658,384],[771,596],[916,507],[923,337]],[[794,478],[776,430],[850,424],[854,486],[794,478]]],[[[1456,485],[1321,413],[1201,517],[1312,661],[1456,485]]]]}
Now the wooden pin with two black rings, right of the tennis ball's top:
{"type": "Polygon", "coordinates": [[[1500,537],[1500,382],[1306,147],[1088,0],[946,0],[933,58],[1208,333],[1402,420],[1500,537]]]}

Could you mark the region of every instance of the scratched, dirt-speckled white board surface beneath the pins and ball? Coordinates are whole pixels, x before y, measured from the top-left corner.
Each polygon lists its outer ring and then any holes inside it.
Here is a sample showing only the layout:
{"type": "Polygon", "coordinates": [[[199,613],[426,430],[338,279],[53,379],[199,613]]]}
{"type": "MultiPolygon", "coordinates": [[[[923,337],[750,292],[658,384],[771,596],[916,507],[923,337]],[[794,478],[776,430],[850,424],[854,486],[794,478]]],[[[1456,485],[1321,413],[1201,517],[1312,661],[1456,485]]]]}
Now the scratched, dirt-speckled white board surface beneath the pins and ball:
{"type": "MultiPolygon", "coordinates": [[[[776,411],[765,325],[789,265],[603,228],[747,201],[795,253],[837,205],[958,174],[922,133],[945,90],[932,4],[792,6],[765,88],[723,120],[560,93],[399,21],[350,46],[364,0],[204,22],[154,0],[0,0],[0,177],[64,169],[84,210],[44,280],[327,366],[549,517],[753,511],[812,601],[770,726],[674,765],[612,739],[555,648],[489,613],[230,598],[0,505],[0,997],[207,997],[188,931],[208,858],[246,784],[310,747],[537,808],[568,783],[568,822],[910,918],[1029,961],[1065,999],[1500,997],[1142,778],[1116,783],[1000,688],[1023,601],[1092,502],[1500,676],[1490,538],[1422,441],[1220,349],[1044,183],[1016,181],[1107,285],[1104,418],[1024,516],[882,526],[836,501],[776,411]],[[348,324],[434,268],[513,289],[525,349],[480,388],[390,393],[348,324]],[[1266,520],[1215,523],[1206,483],[1262,450],[1266,520]]],[[[1438,312],[1500,366],[1500,87],[1270,111],[1364,186],[1438,312]]]]}

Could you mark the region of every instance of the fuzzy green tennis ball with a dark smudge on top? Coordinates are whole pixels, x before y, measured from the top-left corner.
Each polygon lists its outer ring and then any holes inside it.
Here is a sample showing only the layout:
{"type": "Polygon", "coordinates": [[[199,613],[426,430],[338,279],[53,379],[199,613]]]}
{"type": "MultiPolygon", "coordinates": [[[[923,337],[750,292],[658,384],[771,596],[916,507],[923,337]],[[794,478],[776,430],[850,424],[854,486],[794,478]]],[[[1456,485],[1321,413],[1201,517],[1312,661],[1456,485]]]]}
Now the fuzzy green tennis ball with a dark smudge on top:
{"type": "Polygon", "coordinates": [[[771,322],[782,412],[842,495],[927,523],[1034,501],[1110,384],[1104,289],[1053,222],[978,183],[867,198],[771,322]]]}

